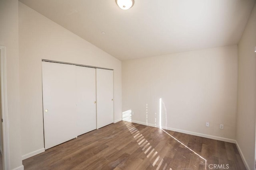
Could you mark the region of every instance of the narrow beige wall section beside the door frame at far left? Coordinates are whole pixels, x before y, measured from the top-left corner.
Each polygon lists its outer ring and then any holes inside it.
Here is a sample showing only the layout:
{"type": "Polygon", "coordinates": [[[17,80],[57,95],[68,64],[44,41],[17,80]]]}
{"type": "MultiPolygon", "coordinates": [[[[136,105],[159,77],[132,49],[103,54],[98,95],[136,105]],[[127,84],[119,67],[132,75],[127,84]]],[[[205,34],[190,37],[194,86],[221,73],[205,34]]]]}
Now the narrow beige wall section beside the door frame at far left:
{"type": "Polygon", "coordinates": [[[23,168],[20,144],[18,0],[0,0],[0,45],[6,46],[10,168],[23,168]]]}

